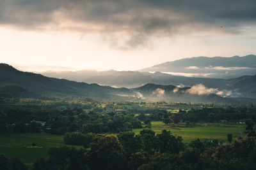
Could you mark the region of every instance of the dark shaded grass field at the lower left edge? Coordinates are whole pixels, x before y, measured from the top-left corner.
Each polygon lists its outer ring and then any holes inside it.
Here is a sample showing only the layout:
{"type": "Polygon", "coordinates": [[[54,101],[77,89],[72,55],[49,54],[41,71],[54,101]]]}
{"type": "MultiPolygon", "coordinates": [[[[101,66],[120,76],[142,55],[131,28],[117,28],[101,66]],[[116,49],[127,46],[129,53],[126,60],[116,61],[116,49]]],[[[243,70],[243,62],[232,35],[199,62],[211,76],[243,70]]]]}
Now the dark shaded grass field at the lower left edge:
{"type": "MultiPolygon", "coordinates": [[[[0,134],[0,153],[11,159],[19,158],[27,165],[40,157],[48,157],[47,150],[52,146],[63,146],[63,136],[52,134],[0,134]],[[36,147],[22,148],[36,143],[36,147]]],[[[77,147],[77,146],[76,146],[77,147]]]]}

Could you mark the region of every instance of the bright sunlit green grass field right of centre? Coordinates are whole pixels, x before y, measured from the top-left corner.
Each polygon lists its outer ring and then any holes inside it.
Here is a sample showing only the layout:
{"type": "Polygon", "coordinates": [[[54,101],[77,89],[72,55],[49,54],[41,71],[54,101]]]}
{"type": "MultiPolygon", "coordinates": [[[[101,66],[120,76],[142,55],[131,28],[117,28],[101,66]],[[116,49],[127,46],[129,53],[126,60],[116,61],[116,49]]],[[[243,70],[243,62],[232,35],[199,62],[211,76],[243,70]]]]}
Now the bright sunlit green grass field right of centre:
{"type": "MultiPolygon", "coordinates": [[[[243,133],[245,125],[228,125],[228,124],[212,124],[214,126],[223,127],[170,127],[164,125],[163,122],[151,122],[152,130],[156,133],[161,133],[164,129],[171,131],[172,134],[182,136],[185,143],[189,143],[197,138],[199,139],[218,139],[220,141],[227,141],[227,134],[232,134],[233,139],[239,138],[240,132],[243,133]],[[224,127],[225,126],[225,127],[224,127]]],[[[141,129],[133,129],[133,132],[138,134],[141,129]]]]}

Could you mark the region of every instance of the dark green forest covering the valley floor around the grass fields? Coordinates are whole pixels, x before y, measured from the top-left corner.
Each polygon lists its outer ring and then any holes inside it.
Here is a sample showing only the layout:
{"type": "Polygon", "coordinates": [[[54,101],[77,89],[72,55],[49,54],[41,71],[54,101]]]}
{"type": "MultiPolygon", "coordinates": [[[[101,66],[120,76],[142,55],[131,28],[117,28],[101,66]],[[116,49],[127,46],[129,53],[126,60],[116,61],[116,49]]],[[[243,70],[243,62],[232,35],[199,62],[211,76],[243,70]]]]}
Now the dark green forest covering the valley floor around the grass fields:
{"type": "MultiPolygon", "coordinates": [[[[0,156],[1,169],[253,169],[256,159],[254,104],[104,102],[94,99],[1,98],[2,134],[47,133],[63,136],[47,157],[32,165],[0,156]],[[28,104],[29,103],[29,104],[28,104]],[[243,136],[228,141],[184,142],[166,127],[244,124],[243,136]],[[188,126],[189,125],[189,126],[188,126]],[[140,129],[138,133],[132,129],[140,129]],[[77,148],[78,147],[78,148],[77,148]],[[100,164],[98,163],[100,162],[100,164]]],[[[236,137],[236,138],[235,138],[236,137]]]]}

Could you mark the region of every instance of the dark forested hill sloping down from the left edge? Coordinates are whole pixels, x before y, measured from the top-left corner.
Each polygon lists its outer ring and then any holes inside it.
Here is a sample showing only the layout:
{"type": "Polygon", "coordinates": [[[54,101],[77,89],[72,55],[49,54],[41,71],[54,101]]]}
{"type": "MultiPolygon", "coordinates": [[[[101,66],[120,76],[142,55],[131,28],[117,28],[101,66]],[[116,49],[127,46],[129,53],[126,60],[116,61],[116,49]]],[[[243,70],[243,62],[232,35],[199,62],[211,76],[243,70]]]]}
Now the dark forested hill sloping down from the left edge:
{"type": "Polygon", "coordinates": [[[121,97],[114,94],[131,94],[129,89],[79,83],[65,79],[49,78],[41,74],[22,72],[8,64],[0,64],[0,87],[18,86],[33,94],[50,97],[96,97],[100,99],[121,97]]]}

